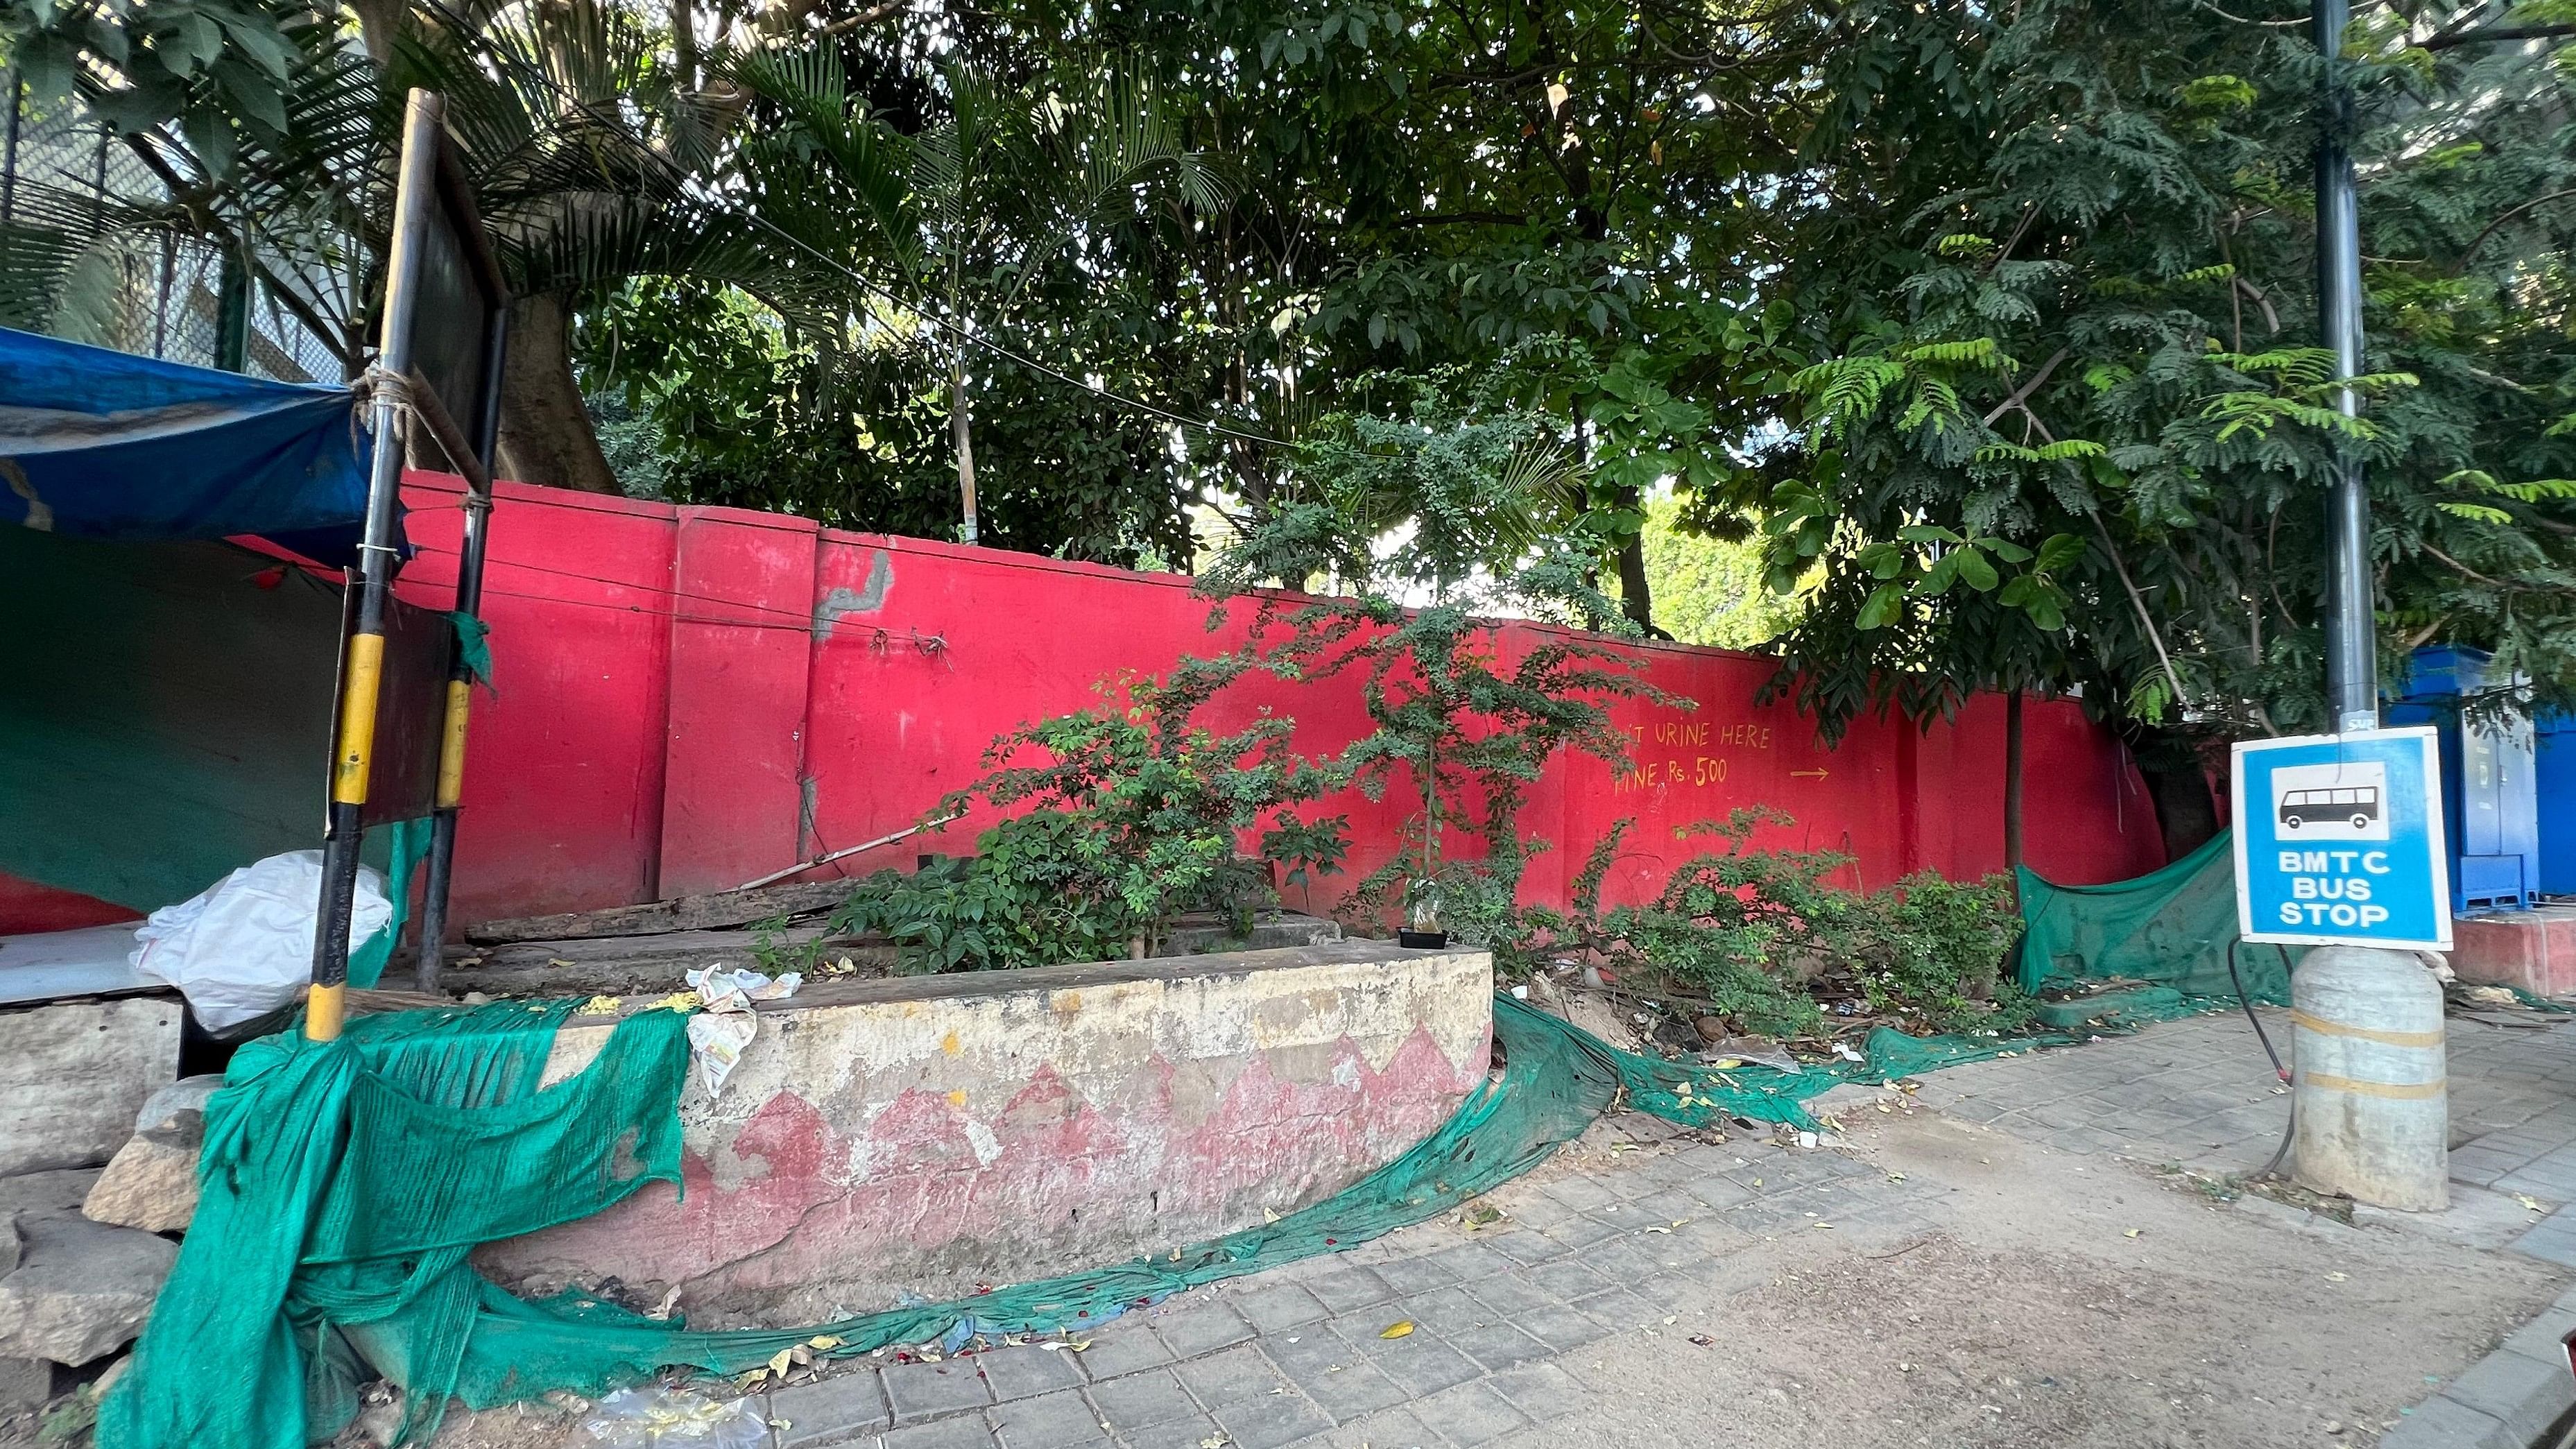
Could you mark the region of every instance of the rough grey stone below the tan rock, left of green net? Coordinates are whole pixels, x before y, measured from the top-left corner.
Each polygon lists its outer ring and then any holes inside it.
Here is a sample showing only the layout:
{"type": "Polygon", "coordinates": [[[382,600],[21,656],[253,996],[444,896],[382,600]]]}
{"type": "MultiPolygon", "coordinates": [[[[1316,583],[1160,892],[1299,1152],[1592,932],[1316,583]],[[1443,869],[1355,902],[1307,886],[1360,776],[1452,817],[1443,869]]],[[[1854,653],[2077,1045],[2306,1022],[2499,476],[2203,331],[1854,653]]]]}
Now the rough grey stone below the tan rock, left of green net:
{"type": "Polygon", "coordinates": [[[88,1364],[134,1341],[178,1243],[77,1212],[21,1214],[26,1253],[0,1279],[0,1359],[88,1364]]]}

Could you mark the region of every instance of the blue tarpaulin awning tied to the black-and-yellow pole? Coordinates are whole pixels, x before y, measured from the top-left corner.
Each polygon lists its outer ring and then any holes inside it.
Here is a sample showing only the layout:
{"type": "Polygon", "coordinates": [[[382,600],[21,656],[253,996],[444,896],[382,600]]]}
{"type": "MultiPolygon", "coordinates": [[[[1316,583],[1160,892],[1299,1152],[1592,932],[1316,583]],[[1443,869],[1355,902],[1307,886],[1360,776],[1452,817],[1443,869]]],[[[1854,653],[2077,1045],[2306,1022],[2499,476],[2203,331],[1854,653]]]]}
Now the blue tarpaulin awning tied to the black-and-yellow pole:
{"type": "Polygon", "coordinates": [[[0,327],[0,523],[85,539],[255,534],[348,562],[363,518],[350,389],[0,327]]]}

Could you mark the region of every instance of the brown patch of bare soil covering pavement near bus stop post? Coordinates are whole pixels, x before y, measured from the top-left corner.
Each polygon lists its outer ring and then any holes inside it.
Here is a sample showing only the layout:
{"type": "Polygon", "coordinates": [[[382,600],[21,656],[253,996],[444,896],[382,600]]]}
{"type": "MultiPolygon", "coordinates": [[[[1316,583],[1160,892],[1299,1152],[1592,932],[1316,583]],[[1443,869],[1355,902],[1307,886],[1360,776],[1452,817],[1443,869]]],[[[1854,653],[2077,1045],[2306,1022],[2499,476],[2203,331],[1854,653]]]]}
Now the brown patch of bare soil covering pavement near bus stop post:
{"type": "Polygon", "coordinates": [[[1932,1114],[1880,1116],[1850,1150],[1932,1189],[1929,1230],[1747,1243],[1726,1274],[1744,1287],[1574,1356],[1600,1392],[1551,1441],[2370,1444],[2563,1284],[2393,1230],[2290,1230],[1932,1114]]]}

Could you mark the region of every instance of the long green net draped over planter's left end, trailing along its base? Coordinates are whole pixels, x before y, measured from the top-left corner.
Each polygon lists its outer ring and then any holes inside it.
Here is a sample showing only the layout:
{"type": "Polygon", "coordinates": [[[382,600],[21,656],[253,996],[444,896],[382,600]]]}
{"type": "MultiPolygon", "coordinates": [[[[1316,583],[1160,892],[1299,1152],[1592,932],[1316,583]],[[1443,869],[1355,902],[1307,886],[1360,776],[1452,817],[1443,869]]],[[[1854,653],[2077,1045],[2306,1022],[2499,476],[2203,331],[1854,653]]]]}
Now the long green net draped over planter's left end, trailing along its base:
{"type": "Polygon", "coordinates": [[[641,1011],[598,1060],[538,1091],[572,1003],[361,1016],[340,1042],[242,1047],[206,1104],[196,1222],[134,1366],[100,1405],[100,1449],[301,1449],[337,1434],[374,1374],[407,1390],[422,1441],[448,1397],[492,1408],[600,1395],[665,1366],[737,1374],[835,1336],[829,1356],[940,1336],[1103,1323],[1139,1302],[1350,1248],[1489,1191],[1628,1101],[1680,1124],[1811,1127],[1837,1073],[1708,1070],[1618,1052],[1507,995],[1504,1070],[1347,1191],[1154,1258],[783,1330],[693,1333],[580,1294],[528,1302],[479,1276],[479,1243],[587,1217],[680,1176],[685,1018],[641,1011]]]}

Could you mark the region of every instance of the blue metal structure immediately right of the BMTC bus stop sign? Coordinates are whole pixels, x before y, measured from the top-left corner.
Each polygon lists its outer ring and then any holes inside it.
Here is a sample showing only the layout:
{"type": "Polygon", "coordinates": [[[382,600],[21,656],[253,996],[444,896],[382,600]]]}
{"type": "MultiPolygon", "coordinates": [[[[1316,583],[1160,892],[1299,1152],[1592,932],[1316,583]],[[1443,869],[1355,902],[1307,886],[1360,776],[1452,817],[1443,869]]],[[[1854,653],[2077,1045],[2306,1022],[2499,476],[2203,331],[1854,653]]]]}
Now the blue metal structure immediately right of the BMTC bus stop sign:
{"type": "Polygon", "coordinates": [[[2432,724],[2442,732],[2442,815],[2450,835],[2452,910],[2530,910],[2540,884],[2540,771],[2535,730],[2522,714],[2468,701],[2514,681],[2486,678],[2488,655],[2427,645],[2406,670],[2406,694],[2388,706],[2388,724],[2432,724]]]}

